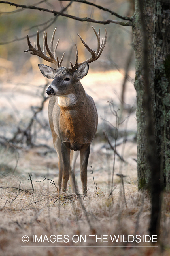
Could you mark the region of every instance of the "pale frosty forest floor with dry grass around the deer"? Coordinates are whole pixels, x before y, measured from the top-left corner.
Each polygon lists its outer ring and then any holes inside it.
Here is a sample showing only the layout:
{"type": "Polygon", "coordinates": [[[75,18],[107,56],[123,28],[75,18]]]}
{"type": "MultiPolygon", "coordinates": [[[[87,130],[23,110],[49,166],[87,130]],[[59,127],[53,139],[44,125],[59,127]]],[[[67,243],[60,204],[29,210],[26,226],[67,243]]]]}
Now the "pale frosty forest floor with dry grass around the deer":
{"type": "Polygon", "coordinates": [[[118,71],[89,71],[81,80],[95,100],[99,125],[88,162],[88,196],[81,195],[77,160],[80,195],[71,194],[68,182],[66,197],[55,186],[58,157],[48,125],[48,99],[39,112],[49,81],[39,73],[1,79],[0,255],[170,255],[169,194],[164,195],[160,243],[148,242],[150,197],[137,190],[136,92],[133,82],[127,82],[122,110],[122,80],[118,71]],[[121,123],[116,150],[124,162],[116,155],[112,182],[114,151],[103,131],[114,146],[116,123],[121,123]],[[24,133],[28,128],[30,134],[24,133]]]}

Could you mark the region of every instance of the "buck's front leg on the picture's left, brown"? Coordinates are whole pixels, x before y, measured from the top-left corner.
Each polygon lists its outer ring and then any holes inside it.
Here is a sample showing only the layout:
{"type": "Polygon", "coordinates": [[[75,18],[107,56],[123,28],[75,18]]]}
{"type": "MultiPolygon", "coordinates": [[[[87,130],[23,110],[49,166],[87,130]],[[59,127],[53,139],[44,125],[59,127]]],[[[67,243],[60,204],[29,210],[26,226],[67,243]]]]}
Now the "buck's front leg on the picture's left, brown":
{"type": "Polygon", "coordinates": [[[66,192],[67,182],[69,180],[69,168],[70,168],[70,146],[69,143],[61,143],[61,154],[63,158],[63,192],[66,192]]]}

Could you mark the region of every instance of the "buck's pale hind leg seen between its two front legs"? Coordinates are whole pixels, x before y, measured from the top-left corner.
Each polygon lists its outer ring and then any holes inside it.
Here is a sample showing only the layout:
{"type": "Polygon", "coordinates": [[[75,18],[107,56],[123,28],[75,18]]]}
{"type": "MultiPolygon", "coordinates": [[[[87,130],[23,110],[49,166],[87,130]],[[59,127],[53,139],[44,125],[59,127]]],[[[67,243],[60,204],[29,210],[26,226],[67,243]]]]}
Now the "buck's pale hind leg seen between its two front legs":
{"type": "Polygon", "coordinates": [[[75,165],[76,160],[78,158],[79,151],[71,150],[71,160],[70,160],[70,184],[71,184],[71,190],[73,193],[77,194],[76,189],[76,180],[75,180],[75,165]]]}

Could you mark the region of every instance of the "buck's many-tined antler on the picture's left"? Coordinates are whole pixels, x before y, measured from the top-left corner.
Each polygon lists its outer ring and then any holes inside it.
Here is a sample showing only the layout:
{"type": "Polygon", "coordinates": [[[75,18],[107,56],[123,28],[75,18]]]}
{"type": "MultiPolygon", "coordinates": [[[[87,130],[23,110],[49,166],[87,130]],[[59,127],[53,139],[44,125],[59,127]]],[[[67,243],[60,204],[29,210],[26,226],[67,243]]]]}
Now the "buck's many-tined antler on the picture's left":
{"type": "Polygon", "coordinates": [[[53,32],[53,35],[52,35],[52,38],[51,38],[51,42],[50,42],[50,49],[49,49],[48,44],[47,44],[47,33],[45,33],[45,31],[44,31],[43,51],[41,50],[40,43],[39,43],[39,31],[37,31],[37,47],[36,47],[36,44],[35,44],[35,48],[32,46],[32,44],[29,40],[29,36],[27,35],[29,49],[26,50],[25,52],[32,51],[32,52],[30,52],[31,54],[37,55],[37,56],[41,57],[42,59],[44,59],[46,61],[52,62],[57,67],[61,67],[61,63],[63,61],[65,52],[63,53],[63,56],[61,57],[61,60],[59,62],[58,57],[56,57],[56,50],[57,50],[57,46],[58,46],[58,43],[59,43],[59,39],[58,39],[58,42],[57,42],[57,44],[54,48],[54,51],[53,51],[53,40],[54,40],[55,32],[56,32],[56,28],[54,29],[54,32],[53,32]],[[48,54],[50,55],[50,57],[48,57],[46,55],[46,50],[47,50],[48,54]],[[53,51],[53,53],[52,53],[52,51],[53,51]]]}

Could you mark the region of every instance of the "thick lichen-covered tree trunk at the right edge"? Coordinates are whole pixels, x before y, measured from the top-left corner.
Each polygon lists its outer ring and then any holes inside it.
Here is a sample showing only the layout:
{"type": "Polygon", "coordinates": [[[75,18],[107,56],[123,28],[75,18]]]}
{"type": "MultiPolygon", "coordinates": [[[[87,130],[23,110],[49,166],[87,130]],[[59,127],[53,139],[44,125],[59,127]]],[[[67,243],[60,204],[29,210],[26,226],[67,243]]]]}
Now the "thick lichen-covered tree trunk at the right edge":
{"type": "MultiPolygon", "coordinates": [[[[170,1],[143,0],[147,44],[148,73],[151,91],[152,115],[154,117],[154,133],[156,157],[162,172],[164,186],[170,190],[170,1]]],[[[133,47],[135,50],[137,91],[137,172],[138,188],[151,185],[151,171],[148,163],[148,142],[146,135],[146,109],[143,101],[143,34],[140,22],[138,1],[135,1],[133,20],[133,47]]]]}

